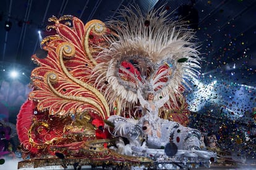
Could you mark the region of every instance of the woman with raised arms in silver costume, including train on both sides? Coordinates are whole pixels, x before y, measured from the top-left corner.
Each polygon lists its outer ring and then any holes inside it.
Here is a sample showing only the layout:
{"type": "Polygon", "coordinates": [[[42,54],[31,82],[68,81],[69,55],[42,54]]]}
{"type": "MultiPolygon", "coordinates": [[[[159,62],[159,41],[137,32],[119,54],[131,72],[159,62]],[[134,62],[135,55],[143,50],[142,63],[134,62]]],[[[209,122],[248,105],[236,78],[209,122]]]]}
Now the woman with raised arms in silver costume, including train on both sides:
{"type": "Polygon", "coordinates": [[[153,100],[153,92],[149,92],[147,96],[147,100],[145,100],[138,90],[140,105],[146,110],[139,121],[122,116],[109,117],[108,121],[114,124],[114,129],[108,128],[111,134],[126,137],[130,142],[136,144],[134,147],[140,147],[143,136],[148,148],[164,148],[171,142],[179,150],[200,150],[202,145],[201,133],[197,129],[184,127],[179,123],[158,116],[159,109],[169,100],[169,95],[160,100],[153,100]],[[138,130],[140,128],[142,130],[138,130]],[[143,134],[140,134],[142,132],[143,134]]]}

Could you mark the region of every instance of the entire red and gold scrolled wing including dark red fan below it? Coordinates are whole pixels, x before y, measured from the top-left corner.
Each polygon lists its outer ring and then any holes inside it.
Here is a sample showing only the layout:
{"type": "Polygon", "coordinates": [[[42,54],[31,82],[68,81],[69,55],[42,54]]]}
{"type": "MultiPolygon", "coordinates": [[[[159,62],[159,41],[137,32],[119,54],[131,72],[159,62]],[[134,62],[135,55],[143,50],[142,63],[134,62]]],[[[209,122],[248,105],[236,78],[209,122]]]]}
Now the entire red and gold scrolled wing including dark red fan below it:
{"type": "Polygon", "coordinates": [[[32,71],[33,91],[17,116],[23,153],[31,157],[53,153],[53,145],[84,140],[94,130],[93,119],[103,121],[111,114],[105,96],[90,79],[98,63],[96,46],[106,46],[103,34],[110,31],[99,20],[84,25],[70,15],[49,21],[53,25],[48,30],[55,34],[41,42],[48,52],[45,59],[32,56],[39,67],[32,71]],[[67,133],[84,136],[67,140],[67,133]]]}

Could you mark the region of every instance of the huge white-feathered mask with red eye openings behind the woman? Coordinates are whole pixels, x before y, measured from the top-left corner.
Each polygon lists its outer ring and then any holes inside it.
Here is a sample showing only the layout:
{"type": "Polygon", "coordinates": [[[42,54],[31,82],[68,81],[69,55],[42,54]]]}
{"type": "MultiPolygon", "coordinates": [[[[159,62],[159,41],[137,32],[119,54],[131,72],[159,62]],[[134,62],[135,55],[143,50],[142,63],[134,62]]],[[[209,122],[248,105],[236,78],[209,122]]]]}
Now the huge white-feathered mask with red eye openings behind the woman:
{"type": "Polygon", "coordinates": [[[126,108],[137,103],[137,89],[169,95],[176,103],[181,84],[197,77],[199,62],[194,33],[170,20],[167,10],[143,15],[139,7],[125,7],[107,26],[116,34],[106,37],[110,46],[98,55],[92,77],[105,90],[110,107],[126,108]]]}

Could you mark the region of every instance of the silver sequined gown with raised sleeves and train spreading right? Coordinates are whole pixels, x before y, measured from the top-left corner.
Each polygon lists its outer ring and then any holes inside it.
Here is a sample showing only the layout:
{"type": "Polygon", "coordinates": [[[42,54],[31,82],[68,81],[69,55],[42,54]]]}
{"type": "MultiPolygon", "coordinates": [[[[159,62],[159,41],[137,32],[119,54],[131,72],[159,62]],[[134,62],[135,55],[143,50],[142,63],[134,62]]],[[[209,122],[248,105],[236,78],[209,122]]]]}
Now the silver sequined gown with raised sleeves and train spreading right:
{"type": "Polygon", "coordinates": [[[147,136],[147,144],[149,148],[161,148],[168,144],[169,139],[177,145],[178,149],[188,150],[190,148],[200,148],[201,134],[197,129],[190,127],[184,127],[174,121],[168,121],[167,119],[161,119],[158,116],[158,110],[163,104],[169,100],[169,96],[166,95],[160,100],[153,101],[155,109],[150,107],[150,103],[143,99],[140,91],[138,91],[138,99],[140,104],[146,108],[147,113],[139,120],[139,124],[142,127],[143,122],[148,121],[152,128],[152,135],[147,136]],[[157,128],[161,128],[161,137],[156,135],[157,128]]]}

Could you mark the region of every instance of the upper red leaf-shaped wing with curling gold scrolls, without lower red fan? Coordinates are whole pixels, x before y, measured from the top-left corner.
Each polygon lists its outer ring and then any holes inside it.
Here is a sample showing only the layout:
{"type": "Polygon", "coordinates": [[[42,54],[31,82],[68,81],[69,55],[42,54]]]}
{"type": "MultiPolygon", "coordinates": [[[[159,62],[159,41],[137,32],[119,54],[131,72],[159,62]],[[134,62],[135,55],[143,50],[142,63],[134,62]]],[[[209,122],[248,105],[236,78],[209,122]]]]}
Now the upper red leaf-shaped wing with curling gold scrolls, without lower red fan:
{"type": "Polygon", "coordinates": [[[92,57],[96,50],[93,51],[90,44],[101,43],[97,38],[100,35],[93,34],[91,27],[99,21],[83,26],[75,17],[68,16],[65,19],[72,19],[73,27],[60,23],[64,18],[51,18],[58,34],[47,37],[41,43],[43,49],[48,51],[46,59],[38,59],[33,55],[32,60],[40,67],[32,71],[35,90],[29,95],[30,100],[36,100],[38,110],[48,110],[49,115],[72,115],[86,108],[106,118],[109,116],[109,108],[105,97],[98,89],[86,83],[96,65],[92,57]]]}

